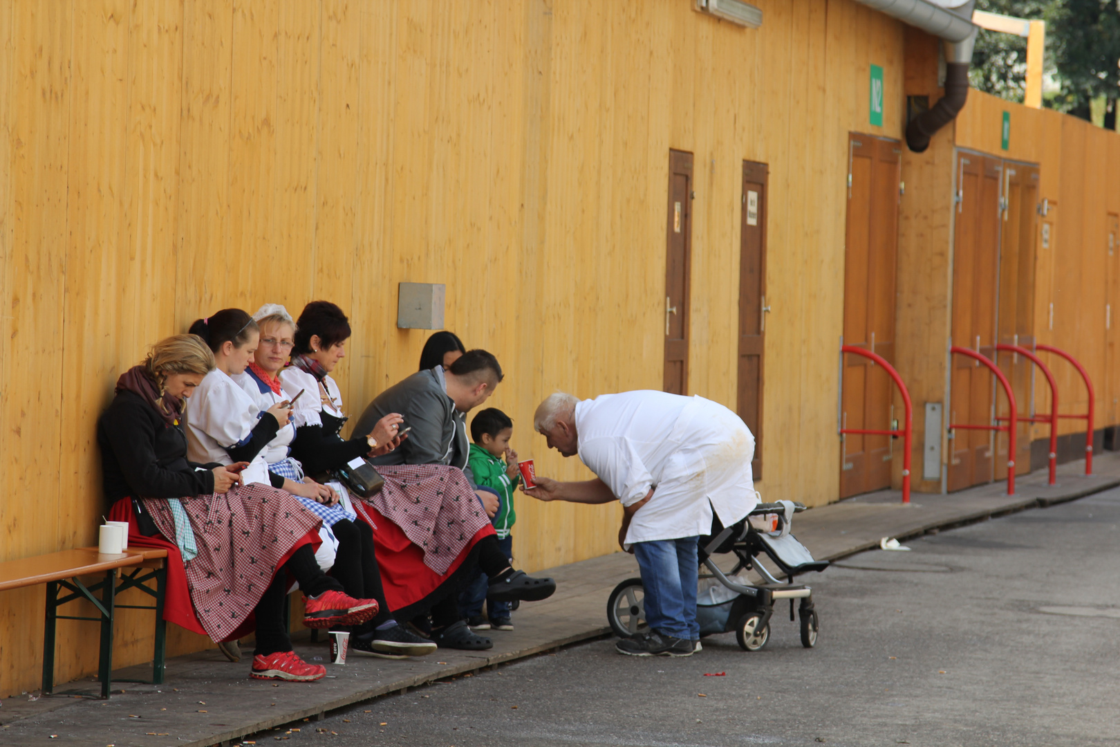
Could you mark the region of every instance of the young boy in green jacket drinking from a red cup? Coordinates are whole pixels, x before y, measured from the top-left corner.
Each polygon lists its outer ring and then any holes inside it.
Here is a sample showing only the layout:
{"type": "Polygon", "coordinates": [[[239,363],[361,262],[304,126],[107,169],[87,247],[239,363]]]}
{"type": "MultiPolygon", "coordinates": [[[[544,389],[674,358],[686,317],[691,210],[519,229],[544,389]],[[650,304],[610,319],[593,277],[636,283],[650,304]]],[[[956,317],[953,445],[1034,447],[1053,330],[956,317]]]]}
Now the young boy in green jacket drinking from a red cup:
{"type": "MultiPolygon", "coordinates": [[[[517,520],[513,510],[513,492],[521,482],[517,471],[517,452],[510,448],[513,437],[513,421],[497,408],[486,408],[470,421],[470,455],[467,466],[474,475],[475,484],[497,494],[498,508],[491,523],[497,531],[497,544],[507,558],[513,558],[513,538],[510,529],[517,520]],[[505,460],[503,461],[503,457],[505,460]]],[[[486,598],[486,576],[480,573],[459,598],[467,625],[475,631],[512,631],[508,601],[488,601],[487,617],[483,617],[483,600],[486,598]]]]}

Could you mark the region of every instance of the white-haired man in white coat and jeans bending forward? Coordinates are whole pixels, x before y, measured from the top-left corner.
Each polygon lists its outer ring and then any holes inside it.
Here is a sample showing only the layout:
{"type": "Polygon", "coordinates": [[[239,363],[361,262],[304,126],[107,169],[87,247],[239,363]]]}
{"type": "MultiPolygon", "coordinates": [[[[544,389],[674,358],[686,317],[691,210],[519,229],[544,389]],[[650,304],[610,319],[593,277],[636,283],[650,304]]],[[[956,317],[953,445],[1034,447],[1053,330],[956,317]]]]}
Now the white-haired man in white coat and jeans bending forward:
{"type": "Polygon", "coordinates": [[[700,651],[697,543],[712,512],[730,526],[758,505],[750,460],[755,438],[737,414],[700,396],[636,391],[544,400],[533,427],[550,448],[579,455],[596,479],[536,477],[541,501],[623,504],[618,543],[633,552],[645,587],[650,632],[619,641],[631,656],[700,651]]]}

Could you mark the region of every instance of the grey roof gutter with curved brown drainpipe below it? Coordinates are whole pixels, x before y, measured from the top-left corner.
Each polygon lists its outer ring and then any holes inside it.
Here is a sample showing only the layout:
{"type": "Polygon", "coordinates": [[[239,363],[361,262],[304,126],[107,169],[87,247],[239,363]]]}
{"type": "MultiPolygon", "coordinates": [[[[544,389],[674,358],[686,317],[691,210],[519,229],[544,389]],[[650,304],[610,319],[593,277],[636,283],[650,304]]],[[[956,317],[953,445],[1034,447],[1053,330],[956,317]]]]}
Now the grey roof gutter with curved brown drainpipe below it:
{"type": "MultiPolygon", "coordinates": [[[[977,27],[972,24],[976,0],[968,0],[954,8],[945,8],[927,0],[857,0],[892,18],[939,36],[945,50],[945,95],[909,121],[906,125],[906,144],[921,153],[930,147],[933,133],[951,122],[969,95],[969,65],[976,44],[977,27]]],[[[942,0],[946,4],[954,0],[942,0]]]]}

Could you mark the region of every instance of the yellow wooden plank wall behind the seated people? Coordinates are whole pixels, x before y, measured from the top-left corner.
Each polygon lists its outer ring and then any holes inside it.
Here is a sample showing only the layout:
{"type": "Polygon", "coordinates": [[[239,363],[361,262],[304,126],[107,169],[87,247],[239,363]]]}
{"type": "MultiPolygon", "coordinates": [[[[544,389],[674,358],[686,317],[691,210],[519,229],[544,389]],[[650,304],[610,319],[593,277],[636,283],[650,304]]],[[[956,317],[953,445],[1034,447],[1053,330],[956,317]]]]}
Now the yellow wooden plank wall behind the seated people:
{"type": "MultiPolygon", "coordinates": [[[[0,559],[93,542],[96,418],[146,347],[227,306],[338,302],[351,412],[414,370],[396,283],[447,283],[494,352],[491,403],[543,474],[533,409],[659,387],[670,148],[697,164],[691,390],[735,403],[744,159],[769,164],[771,498],[834,499],[849,131],[902,136],[902,26],[760,0],[746,30],[682,0],[0,3],[0,559]],[[885,125],[868,122],[868,66],[885,125]]],[[[617,508],[522,499],[532,570],[616,549],[617,508]]],[[[0,595],[0,694],[36,687],[43,589],[0,595]]],[[[119,665],[149,655],[129,610],[119,665]]],[[[59,681],[95,669],[60,624],[59,681]]],[[[91,644],[91,645],[85,645],[91,644]]],[[[208,645],[175,631],[171,653],[208,645]]]]}

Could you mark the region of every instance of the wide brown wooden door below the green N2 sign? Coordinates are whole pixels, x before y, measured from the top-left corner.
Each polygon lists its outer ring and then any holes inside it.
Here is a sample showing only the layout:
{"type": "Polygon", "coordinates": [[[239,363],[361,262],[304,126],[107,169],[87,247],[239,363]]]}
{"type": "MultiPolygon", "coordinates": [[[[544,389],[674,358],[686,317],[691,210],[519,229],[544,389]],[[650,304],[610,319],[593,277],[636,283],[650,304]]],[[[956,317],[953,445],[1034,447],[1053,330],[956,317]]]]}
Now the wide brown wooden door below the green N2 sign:
{"type": "MultiPolygon", "coordinates": [[[[864,134],[851,134],[848,144],[843,342],[894,363],[902,146],[864,134]]],[[[862,356],[846,355],[840,414],[844,428],[890,428],[893,386],[881,366],[862,356]]],[[[889,487],[893,446],[889,436],[844,436],[841,497],[889,487]]]]}

